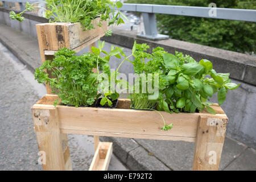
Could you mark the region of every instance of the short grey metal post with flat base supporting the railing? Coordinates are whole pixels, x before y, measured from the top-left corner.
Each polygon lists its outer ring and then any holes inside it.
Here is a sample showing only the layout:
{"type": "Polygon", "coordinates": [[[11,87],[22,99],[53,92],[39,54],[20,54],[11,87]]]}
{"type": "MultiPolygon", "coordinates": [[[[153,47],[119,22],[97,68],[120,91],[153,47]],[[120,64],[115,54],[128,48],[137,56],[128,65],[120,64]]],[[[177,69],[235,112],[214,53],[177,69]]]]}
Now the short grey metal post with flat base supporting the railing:
{"type": "Polygon", "coordinates": [[[154,13],[142,13],[145,34],[138,34],[137,36],[152,40],[162,40],[168,39],[168,35],[158,34],[158,30],[156,28],[156,20],[154,13]]]}

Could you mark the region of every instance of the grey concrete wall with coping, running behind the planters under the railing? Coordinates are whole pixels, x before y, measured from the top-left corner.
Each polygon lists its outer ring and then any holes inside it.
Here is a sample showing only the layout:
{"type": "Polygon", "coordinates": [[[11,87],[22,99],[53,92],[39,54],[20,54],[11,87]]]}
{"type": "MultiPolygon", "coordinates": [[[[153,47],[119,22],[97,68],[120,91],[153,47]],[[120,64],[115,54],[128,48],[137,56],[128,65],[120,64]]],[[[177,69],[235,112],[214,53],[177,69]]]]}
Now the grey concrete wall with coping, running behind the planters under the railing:
{"type": "MultiPolygon", "coordinates": [[[[39,22],[47,22],[46,19],[38,16],[26,15],[26,20],[19,23],[10,20],[8,10],[0,8],[0,22],[5,23],[16,30],[23,31],[36,38],[35,24],[39,22]]],[[[110,44],[125,47],[125,53],[131,54],[131,47],[134,40],[138,43],[147,43],[151,48],[160,46],[166,51],[174,53],[181,51],[191,55],[196,60],[208,59],[213,62],[213,67],[217,72],[230,73],[233,82],[241,84],[240,88],[230,90],[222,108],[229,117],[228,135],[238,139],[249,146],[256,148],[256,57],[245,55],[242,53],[226,51],[224,49],[201,46],[182,42],[179,40],[168,39],[152,42],[151,40],[140,39],[136,34],[129,31],[114,30],[113,36],[102,38],[106,41],[105,50],[110,50],[110,44]]],[[[78,54],[88,52],[85,48],[78,54]]],[[[118,59],[110,61],[112,68],[117,68],[118,59]]],[[[122,73],[133,73],[133,67],[129,63],[125,63],[119,69],[122,73]]],[[[213,96],[211,102],[217,102],[217,96],[213,96]]]]}

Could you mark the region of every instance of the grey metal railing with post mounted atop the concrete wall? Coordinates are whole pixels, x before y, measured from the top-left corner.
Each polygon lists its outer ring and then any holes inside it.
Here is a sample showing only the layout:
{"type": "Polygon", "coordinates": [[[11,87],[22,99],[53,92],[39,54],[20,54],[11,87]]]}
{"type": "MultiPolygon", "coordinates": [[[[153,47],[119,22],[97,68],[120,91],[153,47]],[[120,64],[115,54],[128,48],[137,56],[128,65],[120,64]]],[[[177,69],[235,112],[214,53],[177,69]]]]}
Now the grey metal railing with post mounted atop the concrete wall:
{"type": "MultiPolygon", "coordinates": [[[[30,3],[35,3],[40,0],[28,0],[30,3]]],[[[20,9],[24,9],[23,3],[26,0],[5,0],[5,2],[19,2],[20,9]]],[[[214,3],[211,3],[212,7],[195,7],[195,6],[167,6],[167,5],[142,5],[142,4],[129,4],[124,3],[121,10],[140,12],[143,16],[145,33],[138,34],[138,36],[148,39],[167,39],[167,35],[158,34],[156,28],[155,14],[168,14],[168,15],[183,15],[183,16],[195,16],[201,18],[214,18],[214,19],[227,19],[227,20],[240,20],[246,22],[256,22],[256,10],[245,9],[226,9],[214,7],[214,3]]]]}

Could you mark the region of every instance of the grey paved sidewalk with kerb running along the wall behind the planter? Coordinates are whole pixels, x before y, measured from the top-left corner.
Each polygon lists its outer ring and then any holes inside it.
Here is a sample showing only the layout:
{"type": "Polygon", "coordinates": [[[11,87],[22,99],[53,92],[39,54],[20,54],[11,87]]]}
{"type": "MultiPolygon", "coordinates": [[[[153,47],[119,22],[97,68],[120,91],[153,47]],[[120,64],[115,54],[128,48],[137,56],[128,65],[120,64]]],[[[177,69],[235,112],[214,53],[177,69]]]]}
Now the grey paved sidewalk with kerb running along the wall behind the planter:
{"type": "MultiPolygon", "coordinates": [[[[37,40],[0,24],[0,42],[30,65],[40,65],[37,40]],[[26,46],[22,46],[21,42],[26,46]]],[[[132,170],[190,170],[195,143],[101,137],[114,143],[114,154],[132,170]]],[[[226,137],[220,170],[256,170],[256,151],[226,137]]]]}

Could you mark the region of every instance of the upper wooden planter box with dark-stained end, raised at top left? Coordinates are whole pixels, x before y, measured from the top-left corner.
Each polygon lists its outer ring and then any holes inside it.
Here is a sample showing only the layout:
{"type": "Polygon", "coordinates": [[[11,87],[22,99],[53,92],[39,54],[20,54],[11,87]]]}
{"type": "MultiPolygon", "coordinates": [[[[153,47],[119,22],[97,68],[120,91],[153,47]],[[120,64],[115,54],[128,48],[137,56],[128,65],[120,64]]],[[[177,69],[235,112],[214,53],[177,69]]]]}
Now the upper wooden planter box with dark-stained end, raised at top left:
{"type": "Polygon", "coordinates": [[[84,31],[81,23],[42,23],[36,24],[38,40],[48,54],[49,51],[58,51],[61,48],[69,48],[78,52],[82,48],[96,42],[105,32],[108,31],[108,22],[102,22],[102,27],[98,27],[100,18],[92,21],[95,29],[84,31]]]}

